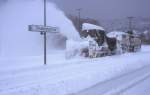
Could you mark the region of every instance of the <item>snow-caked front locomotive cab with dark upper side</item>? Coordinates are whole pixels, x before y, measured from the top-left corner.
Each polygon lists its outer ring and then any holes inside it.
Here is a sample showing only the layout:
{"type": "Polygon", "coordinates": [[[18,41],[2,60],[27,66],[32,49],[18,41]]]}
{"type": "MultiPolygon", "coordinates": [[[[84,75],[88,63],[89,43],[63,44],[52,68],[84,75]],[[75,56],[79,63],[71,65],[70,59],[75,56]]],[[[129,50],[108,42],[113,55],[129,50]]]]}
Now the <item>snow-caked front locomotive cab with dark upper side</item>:
{"type": "Polygon", "coordinates": [[[107,55],[108,53],[108,46],[105,43],[105,30],[100,27],[89,23],[84,23],[82,26],[82,34],[83,37],[86,39],[90,38],[89,40],[89,48],[88,48],[88,55],[89,57],[99,57],[107,55]]]}

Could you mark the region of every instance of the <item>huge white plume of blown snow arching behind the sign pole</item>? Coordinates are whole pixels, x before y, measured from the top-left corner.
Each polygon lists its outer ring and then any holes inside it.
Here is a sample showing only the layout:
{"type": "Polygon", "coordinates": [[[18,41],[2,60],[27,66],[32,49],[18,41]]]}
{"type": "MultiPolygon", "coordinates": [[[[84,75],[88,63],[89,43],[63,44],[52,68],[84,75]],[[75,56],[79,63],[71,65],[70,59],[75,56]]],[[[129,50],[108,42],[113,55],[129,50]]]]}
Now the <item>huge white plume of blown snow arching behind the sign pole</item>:
{"type": "MultiPolygon", "coordinates": [[[[0,12],[0,56],[42,55],[43,36],[28,31],[28,25],[43,25],[42,0],[9,0],[0,12]]],[[[47,3],[47,25],[59,27],[59,32],[68,39],[79,38],[72,22],[50,2],[47,3]]]]}

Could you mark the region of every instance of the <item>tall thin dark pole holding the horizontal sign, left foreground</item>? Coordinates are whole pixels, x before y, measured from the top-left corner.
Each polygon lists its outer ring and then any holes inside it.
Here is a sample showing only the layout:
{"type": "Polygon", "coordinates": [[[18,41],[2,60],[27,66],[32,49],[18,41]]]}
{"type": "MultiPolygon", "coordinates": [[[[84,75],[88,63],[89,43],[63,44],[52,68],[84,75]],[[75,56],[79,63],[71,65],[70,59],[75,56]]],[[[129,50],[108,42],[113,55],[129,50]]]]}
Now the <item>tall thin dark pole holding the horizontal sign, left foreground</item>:
{"type": "MultiPolygon", "coordinates": [[[[44,0],[44,26],[46,27],[46,0],[44,0]]],[[[46,54],[46,49],[47,49],[47,45],[46,45],[46,31],[44,31],[44,65],[46,65],[47,62],[47,54],[46,54]]]]}

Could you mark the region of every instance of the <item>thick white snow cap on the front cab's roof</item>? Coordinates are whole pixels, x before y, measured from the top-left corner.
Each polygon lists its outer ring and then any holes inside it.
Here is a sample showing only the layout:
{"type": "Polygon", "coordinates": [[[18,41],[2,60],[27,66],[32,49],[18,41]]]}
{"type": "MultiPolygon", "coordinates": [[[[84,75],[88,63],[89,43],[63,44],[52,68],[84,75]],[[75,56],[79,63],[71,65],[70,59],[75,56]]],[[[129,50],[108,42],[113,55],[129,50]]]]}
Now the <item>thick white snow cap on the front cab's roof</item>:
{"type": "Polygon", "coordinates": [[[90,23],[83,23],[82,24],[82,30],[91,30],[91,29],[104,30],[103,27],[97,26],[94,24],[90,24],[90,23]]]}

